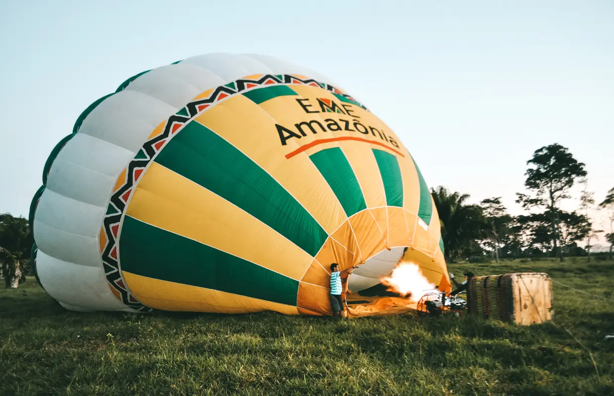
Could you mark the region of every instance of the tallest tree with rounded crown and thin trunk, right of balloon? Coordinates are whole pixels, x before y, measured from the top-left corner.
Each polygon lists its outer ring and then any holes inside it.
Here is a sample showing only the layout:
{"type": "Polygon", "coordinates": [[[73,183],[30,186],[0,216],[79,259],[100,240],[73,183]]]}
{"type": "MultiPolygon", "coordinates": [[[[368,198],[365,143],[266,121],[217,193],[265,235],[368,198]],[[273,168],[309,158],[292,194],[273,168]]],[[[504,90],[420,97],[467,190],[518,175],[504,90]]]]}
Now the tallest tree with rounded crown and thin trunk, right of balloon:
{"type": "Polygon", "coordinates": [[[559,205],[569,198],[569,189],[578,177],[586,176],[584,164],[573,158],[572,154],[560,144],[551,144],[535,150],[533,157],[527,161],[532,168],[527,169],[524,185],[533,192],[533,196],[516,193],[524,209],[539,208],[550,214],[550,227],[553,234],[554,254],[561,261],[561,235],[559,231],[559,205]]]}

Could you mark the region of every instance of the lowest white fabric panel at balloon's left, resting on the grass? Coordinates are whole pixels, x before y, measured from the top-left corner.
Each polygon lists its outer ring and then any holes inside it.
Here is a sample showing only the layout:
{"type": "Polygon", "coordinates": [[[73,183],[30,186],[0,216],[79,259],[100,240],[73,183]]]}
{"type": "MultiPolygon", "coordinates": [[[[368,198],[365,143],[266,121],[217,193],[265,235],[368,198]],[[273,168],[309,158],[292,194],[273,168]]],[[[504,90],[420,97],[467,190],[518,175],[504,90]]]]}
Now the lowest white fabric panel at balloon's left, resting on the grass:
{"type": "Polygon", "coordinates": [[[47,293],[60,303],[85,310],[126,309],[126,306],[111,293],[100,267],[67,263],[39,249],[36,269],[47,293]]]}

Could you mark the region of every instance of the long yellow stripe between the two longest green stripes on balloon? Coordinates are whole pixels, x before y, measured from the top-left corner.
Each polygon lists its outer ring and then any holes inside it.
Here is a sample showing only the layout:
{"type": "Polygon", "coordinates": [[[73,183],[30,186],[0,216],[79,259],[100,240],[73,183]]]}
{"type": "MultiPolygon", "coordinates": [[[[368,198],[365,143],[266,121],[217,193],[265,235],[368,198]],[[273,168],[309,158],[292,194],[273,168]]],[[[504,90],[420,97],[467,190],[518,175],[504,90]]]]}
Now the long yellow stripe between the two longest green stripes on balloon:
{"type": "Polygon", "coordinates": [[[313,260],[243,209],[155,162],[139,182],[126,214],[297,281],[313,260]]]}

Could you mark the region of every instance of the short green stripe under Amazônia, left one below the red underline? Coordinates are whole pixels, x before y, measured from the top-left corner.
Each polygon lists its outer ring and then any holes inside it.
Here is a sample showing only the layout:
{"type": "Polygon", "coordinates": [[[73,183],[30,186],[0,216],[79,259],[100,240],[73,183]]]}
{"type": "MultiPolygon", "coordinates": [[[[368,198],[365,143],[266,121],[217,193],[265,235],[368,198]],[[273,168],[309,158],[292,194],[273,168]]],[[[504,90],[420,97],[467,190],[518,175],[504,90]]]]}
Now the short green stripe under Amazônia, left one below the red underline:
{"type": "Polygon", "coordinates": [[[321,150],[309,158],[332,188],[348,217],[367,209],[356,174],[339,147],[321,150]]]}

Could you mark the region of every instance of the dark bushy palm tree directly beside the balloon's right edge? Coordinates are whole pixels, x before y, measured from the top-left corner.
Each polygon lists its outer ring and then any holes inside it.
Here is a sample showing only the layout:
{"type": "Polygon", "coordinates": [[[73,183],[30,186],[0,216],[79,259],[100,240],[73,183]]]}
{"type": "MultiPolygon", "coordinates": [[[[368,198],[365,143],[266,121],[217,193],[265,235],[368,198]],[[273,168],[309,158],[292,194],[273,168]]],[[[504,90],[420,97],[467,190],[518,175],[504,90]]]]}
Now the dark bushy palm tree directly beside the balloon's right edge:
{"type": "Polygon", "coordinates": [[[449,193],[445,187],[433,188],[431,193],[439,214],[446,260],[475,251],[485,225],[480,206],[466,204],[468,194],[449,193]]]}

